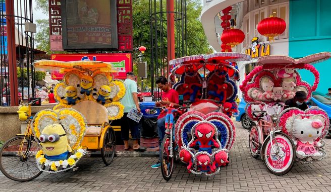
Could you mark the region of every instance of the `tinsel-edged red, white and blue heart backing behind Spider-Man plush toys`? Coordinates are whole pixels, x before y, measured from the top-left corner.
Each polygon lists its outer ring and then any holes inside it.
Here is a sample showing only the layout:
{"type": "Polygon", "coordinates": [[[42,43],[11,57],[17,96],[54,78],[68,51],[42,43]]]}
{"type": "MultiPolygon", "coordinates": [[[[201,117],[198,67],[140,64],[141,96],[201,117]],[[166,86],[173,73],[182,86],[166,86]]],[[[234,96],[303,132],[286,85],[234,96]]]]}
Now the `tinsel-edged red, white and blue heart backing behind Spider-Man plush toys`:
{"type": "Polygon", "coordinates": [[[231,119],[220,112],[213,112],[204,115],[197,111],[190,111],[183,114],[175,126],[175,141],[179,149],[188,147],[195,140],[195,128],[204,123],[215,128],[214,140],[220,144],[219,149],[230,150],[236,137],[236,129],[231,119]],[[217,136],[216,136],[217,135],[217,136]]]}

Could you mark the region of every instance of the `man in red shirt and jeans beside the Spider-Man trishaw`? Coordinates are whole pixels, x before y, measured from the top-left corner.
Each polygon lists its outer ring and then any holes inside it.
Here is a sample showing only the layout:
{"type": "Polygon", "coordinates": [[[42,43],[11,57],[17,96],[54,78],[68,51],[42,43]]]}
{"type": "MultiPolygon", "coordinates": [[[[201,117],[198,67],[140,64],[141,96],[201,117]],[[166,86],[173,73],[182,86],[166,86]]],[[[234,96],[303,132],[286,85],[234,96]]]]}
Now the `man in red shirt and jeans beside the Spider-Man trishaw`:
{"type": "MultiPolygon", "coordinates": [[[[156,106],[165,106],[166,108],[169,107],[170,104],[173,104],[175,108],[179,107],[179,97],[176,90],[172,89],[169,84],[168,80],[164,76],[160,76],[156,80],[157,87],[163,91],[162,93],[162,101],[156,102],[156,106]]],[[[161,166],[161,143],[163,141],[164,133],[166,132],[166,115],[167,113],[163,111],[157,117],[157,128],[158,128],[158,145],[160,148],[160,155],[158,157],[158,162],[153,164],[151,168],[158,168],[161,166]]],[[[174,128],[173,128],[174,129],[174,128]]]]}

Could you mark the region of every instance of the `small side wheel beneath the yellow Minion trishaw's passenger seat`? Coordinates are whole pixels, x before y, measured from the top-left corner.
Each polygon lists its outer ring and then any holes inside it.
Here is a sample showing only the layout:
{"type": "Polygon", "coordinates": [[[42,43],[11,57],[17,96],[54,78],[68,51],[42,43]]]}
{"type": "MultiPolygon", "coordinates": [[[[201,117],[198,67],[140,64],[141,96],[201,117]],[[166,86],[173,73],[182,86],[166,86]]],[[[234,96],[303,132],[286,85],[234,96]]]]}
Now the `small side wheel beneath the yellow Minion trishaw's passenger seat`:
{"type": "Polygon", "coordinates": [[[115,131],[112,127],[109,127],[104,134],[103,145],[101,148],[102,161],[106,166],[112,164],[115,153],[116,153],[115,131]]]}

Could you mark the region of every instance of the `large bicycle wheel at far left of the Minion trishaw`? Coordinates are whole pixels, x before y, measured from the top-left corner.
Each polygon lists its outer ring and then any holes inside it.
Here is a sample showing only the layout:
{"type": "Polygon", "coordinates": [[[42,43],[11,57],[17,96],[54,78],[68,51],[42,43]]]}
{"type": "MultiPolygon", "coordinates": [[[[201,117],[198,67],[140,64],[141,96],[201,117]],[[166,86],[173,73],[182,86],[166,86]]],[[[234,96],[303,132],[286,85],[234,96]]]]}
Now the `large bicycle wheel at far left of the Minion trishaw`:
{"type": "Polygon", "coordinates": [[[24,135],[8,140],[0,149],[0,170],[8,178],[16,181],[30,181],[42,171],[36,163],[36,154],[41,150],[37,139],[24,139],[24,135]],[[21,153],[19,151],[22,145],[21,153]]]}

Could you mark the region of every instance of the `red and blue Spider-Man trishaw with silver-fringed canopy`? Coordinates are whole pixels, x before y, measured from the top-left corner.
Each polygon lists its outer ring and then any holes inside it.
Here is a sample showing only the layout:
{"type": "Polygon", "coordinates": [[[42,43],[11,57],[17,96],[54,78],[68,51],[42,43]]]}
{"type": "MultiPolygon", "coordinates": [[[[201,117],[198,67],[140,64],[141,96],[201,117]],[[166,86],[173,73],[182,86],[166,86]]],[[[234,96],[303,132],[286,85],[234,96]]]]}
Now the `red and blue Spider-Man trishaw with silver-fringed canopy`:
{"type": "Polygon", "coordinates": [[[163,107],[167,113],[166,135],[161,145],[164,179],[171,178],[178,156],[194,174],[213,175],[229,163],[229,151],[236,137],[231,120],[237,112],[235,80],[239,80],[234,64],[250,59],[247,54],[215,53],[170,61],[169,82],[187,106],[163,107]],[[180,77],[178,82],[176,77],[180,77]]]}

